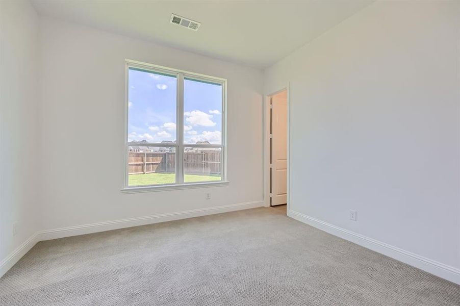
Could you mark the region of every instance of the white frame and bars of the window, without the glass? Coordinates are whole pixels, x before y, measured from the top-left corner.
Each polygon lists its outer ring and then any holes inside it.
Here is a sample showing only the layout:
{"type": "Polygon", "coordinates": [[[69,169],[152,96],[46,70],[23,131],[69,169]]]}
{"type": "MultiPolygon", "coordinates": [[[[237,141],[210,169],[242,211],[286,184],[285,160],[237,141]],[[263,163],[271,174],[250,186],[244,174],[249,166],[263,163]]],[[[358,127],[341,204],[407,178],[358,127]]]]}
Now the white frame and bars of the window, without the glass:
{"type": "MultiPolygon", "coordinates": [[[[210,75],[194,73],[190,71],[168,68],[164,66],[154,65],[143,63],[139,61],[133,60],[125,60],[125,98],[124,98],[124,126],[125,126],[125,133],[124,133],[124,178],[123,178],[123,187],[121,189],[122,193],[137,193],[137,192],[150,192],[150,191],[162,191],[162,190],[171,190],[171,189],[189,189],[189,188],[205,188],[205,187],[218,187],[218,186],[226,186],[228,185],[227,181],[227,171],[226,171],[226,101],[227,101],[227,80],[223,78],[216,78],[211,77],[210,75]],[[175,173],[176,173],[176,182],[175,184],[157,184],[157,185],[146,185],[146,186],[129,186],[128,178],[129,178],[129,164],[128,164],[128,157],[129,157],[129,146],[130,143],[128,141],[128,94],[129,94],[129,69],[138,68],[143,70],[148,70],[153,73],[160,72],[166,73],[170,75],[175,75],[177,78],[177,94],[176,94],[176,143],[155,143],[155,142],[148,142],[142,143],[144,146],[156,146],[156,147],[174,147],[176,152],[176,160],[175,160],[175,173]],[[184,78],[190,78],[197,81],[206,81],[212,83],[219,83],[222,85],[222,143],[221,144],[184,144],[184,78]],[[213,148],[221,148],[221,180],[214,181],[214,182],[184,182],[184,149],[185,147],[213,147],[213,148]]],[[[131,145],[133,145],[131,143],[131,145]]]]}

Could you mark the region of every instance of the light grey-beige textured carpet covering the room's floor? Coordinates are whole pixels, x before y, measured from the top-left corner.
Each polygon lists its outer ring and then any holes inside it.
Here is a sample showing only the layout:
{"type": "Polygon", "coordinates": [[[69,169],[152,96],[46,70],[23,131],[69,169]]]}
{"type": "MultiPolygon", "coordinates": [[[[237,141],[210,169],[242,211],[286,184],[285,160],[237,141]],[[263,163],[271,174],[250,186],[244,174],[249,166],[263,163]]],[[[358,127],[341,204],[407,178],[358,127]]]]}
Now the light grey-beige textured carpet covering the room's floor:
{"type": "Polygon", "coordinates": [[[460,305],[460,286],[258,208],[39,242],[0,305],[460,305]]]}

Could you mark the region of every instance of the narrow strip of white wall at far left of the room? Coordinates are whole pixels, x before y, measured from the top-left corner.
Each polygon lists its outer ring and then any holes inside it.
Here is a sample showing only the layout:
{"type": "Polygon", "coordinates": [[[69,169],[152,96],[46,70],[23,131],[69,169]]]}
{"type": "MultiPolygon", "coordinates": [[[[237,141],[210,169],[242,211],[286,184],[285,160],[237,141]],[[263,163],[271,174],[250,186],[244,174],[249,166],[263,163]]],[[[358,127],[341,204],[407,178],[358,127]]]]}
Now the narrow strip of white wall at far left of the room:
{"type": "Polygon", "coordinates": [[[0,2],[0,275],[37,231],[37,26],[29,2],[0,2]]]}

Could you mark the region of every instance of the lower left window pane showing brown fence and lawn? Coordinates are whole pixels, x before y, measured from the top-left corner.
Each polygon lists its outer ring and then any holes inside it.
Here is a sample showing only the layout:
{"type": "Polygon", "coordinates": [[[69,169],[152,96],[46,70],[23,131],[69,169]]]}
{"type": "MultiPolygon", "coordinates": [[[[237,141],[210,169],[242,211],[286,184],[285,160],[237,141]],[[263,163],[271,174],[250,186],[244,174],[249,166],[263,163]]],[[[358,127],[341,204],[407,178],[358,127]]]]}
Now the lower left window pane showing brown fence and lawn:
{"type": "Polygon", "coordinates": [[[128,185],[175,184],[175,147],[154,147],[142,142],[128,146],[128,185]]]}

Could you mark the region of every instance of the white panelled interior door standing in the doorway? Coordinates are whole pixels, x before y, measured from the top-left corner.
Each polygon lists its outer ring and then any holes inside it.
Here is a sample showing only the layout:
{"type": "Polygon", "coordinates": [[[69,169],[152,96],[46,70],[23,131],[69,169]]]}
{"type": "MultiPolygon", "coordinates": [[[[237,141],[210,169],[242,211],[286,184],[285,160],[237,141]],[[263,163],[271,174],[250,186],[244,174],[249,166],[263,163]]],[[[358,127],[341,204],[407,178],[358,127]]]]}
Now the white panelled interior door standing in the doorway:
{"type": "Polygon", "coordinates": [[[271,97],[271,206],[287,203],[287,91],[271,97]]]}

